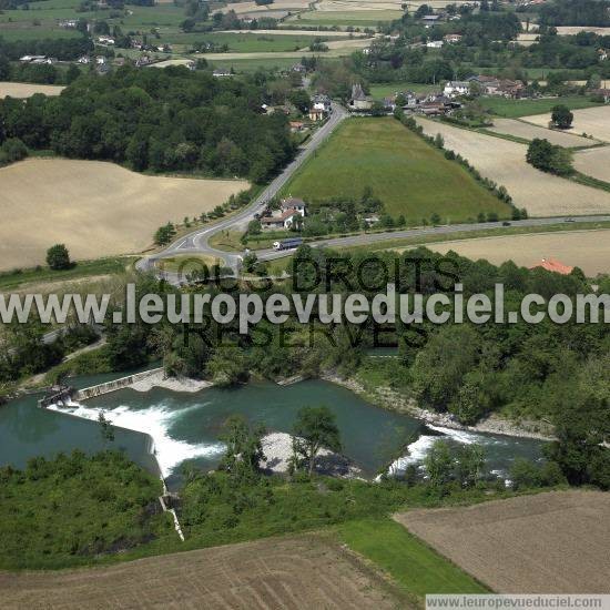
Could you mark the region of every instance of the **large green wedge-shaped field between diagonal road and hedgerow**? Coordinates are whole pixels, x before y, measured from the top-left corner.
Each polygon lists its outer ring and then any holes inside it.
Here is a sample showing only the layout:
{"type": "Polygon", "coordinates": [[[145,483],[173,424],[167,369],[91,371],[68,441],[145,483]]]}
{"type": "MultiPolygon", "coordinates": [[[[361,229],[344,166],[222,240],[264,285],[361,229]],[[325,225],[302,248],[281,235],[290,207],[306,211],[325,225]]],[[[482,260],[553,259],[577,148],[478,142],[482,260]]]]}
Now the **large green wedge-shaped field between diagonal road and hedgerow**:
{"type": "Polygon", "coordinates": [[[393,216],[419,222],[476,218],[479,212],[510,215],[510,207],[482,189],[454,161],[393,118],[349,119],[306,162],[284,193],[311,202],[362,195],[370,186],[393,216]]]}

